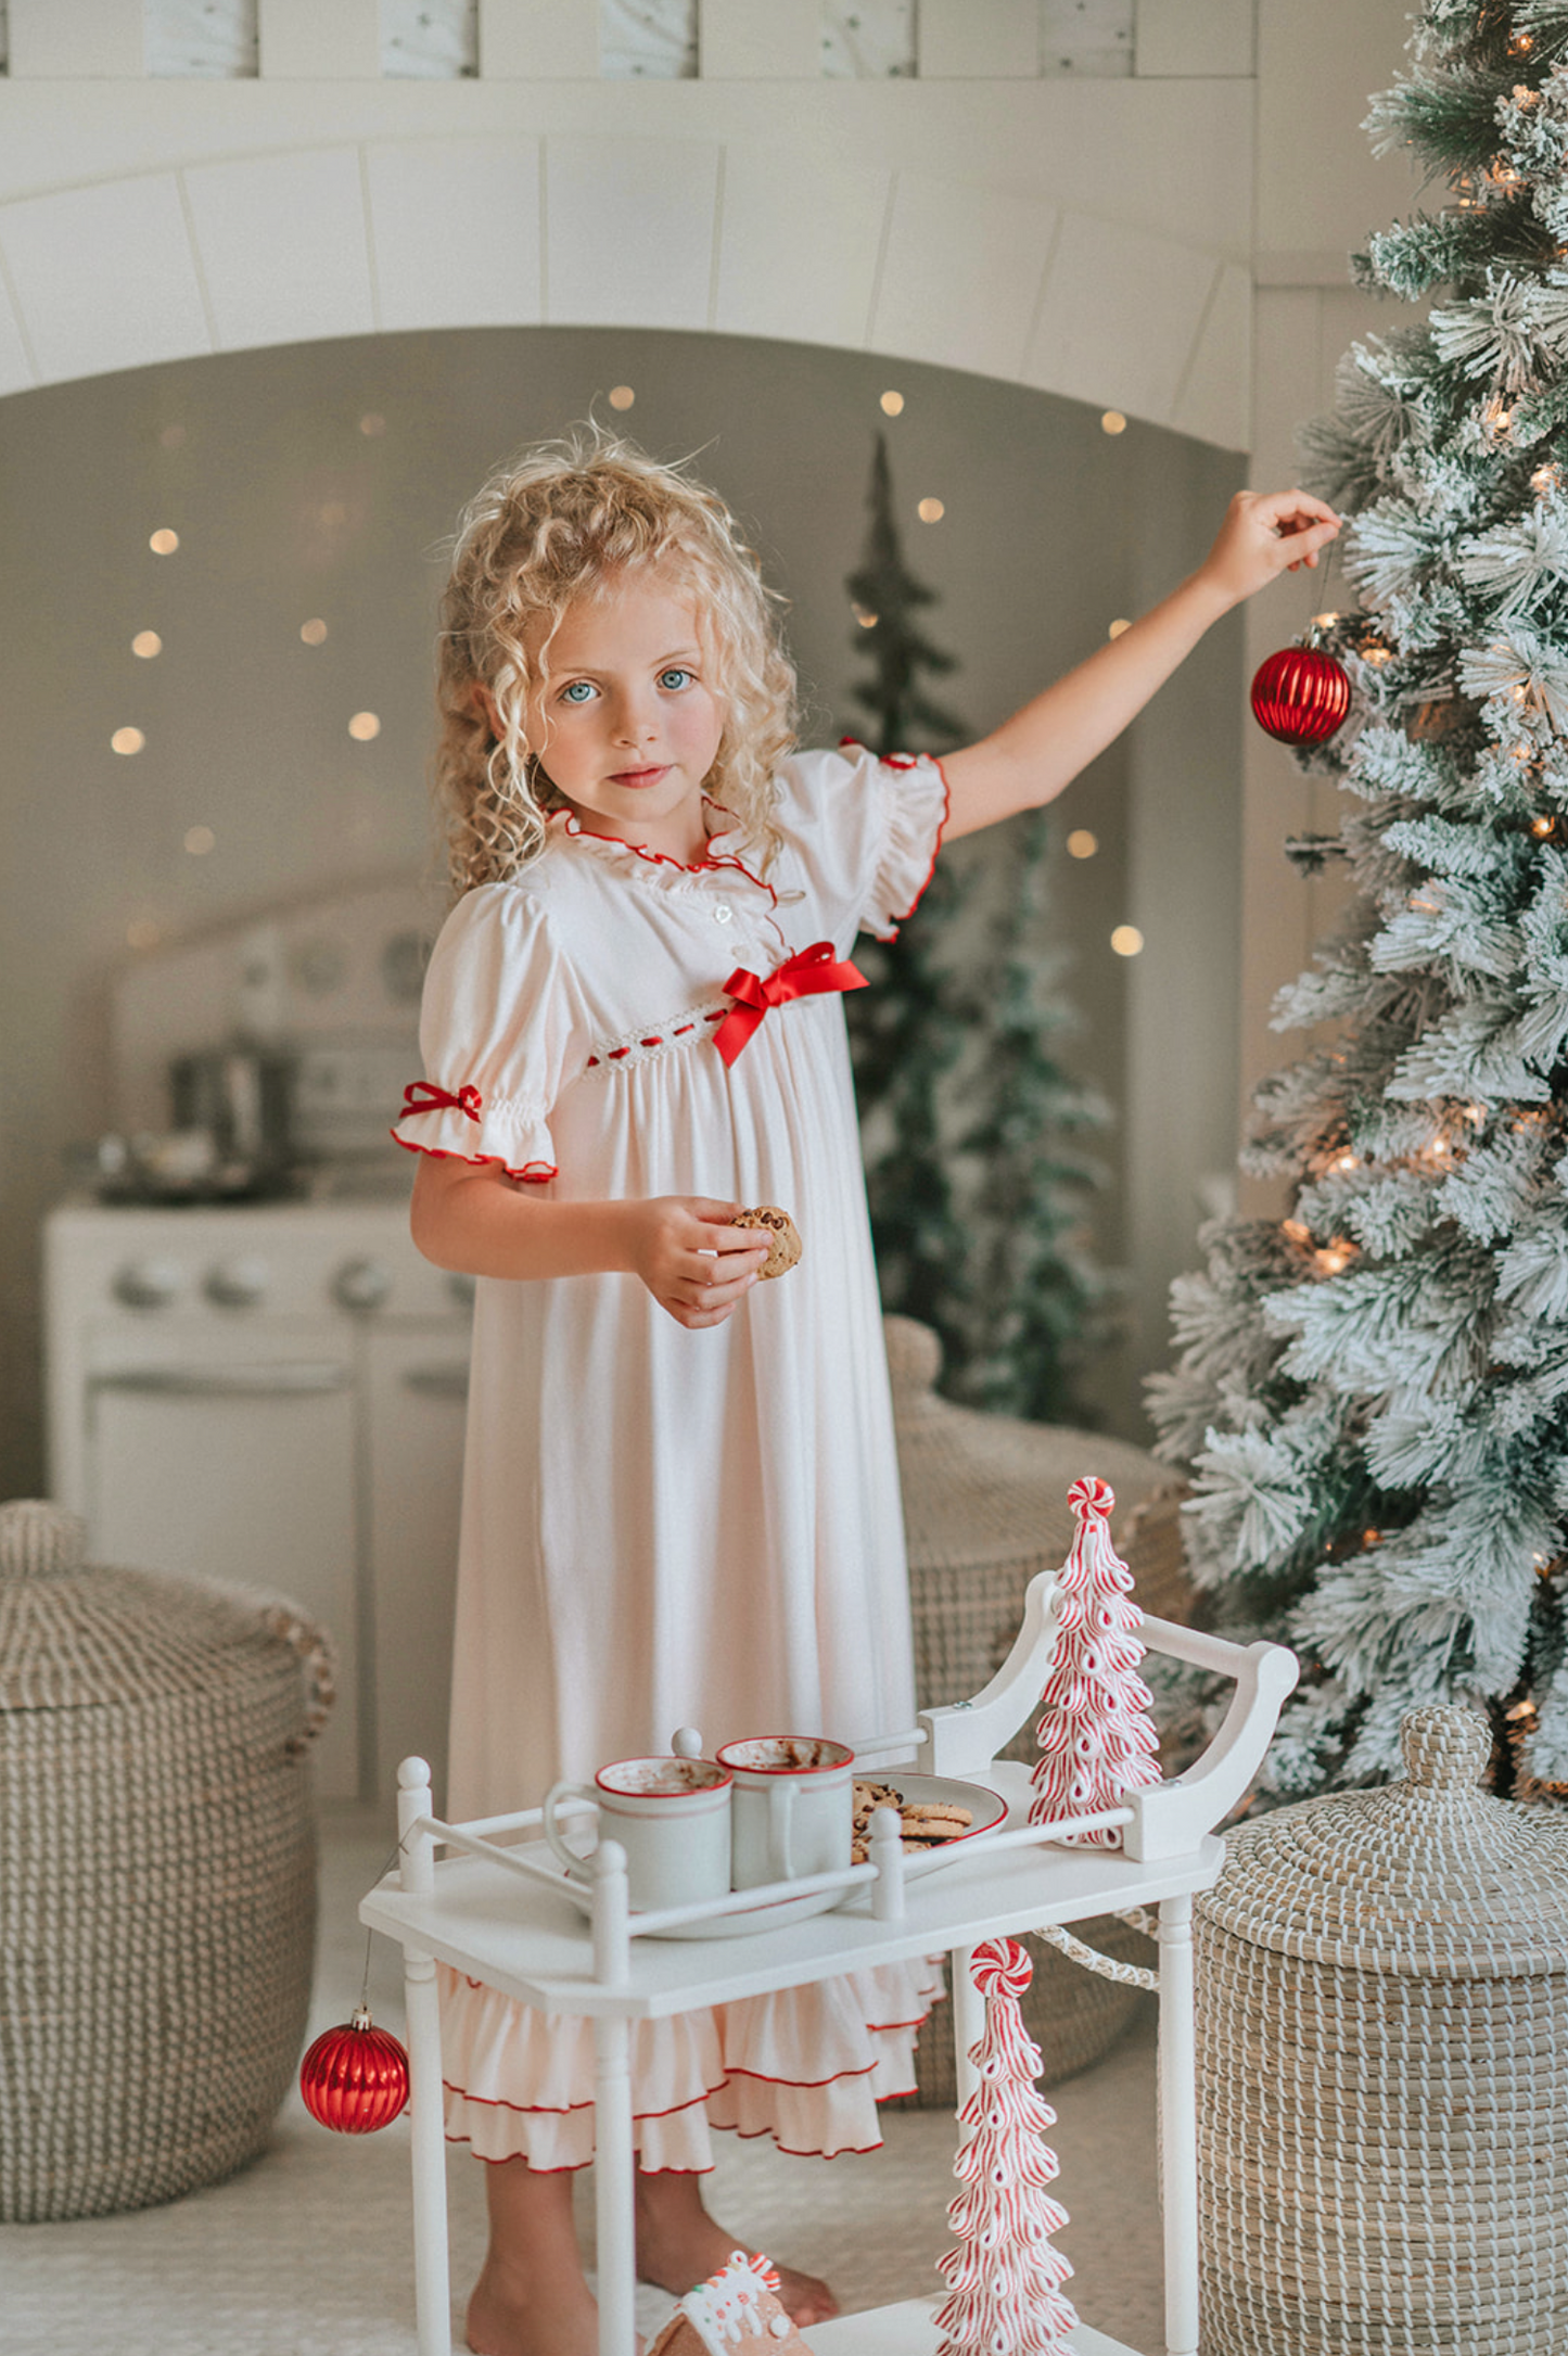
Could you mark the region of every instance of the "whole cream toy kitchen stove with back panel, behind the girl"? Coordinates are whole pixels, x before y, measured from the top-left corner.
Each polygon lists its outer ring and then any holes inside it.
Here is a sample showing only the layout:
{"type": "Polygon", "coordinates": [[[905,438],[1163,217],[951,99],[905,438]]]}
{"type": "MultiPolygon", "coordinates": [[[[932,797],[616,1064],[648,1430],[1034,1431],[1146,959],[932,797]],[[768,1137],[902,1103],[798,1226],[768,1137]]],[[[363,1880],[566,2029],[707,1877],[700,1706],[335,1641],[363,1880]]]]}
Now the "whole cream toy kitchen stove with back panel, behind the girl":
{"type": "Polygon", "coordinates": [[[419,1072],[410,898],[170,952],[174,971],[132,968],[115,1004],[132,1131],[207,1044],[195,1023],[224,1020],[224,992],[231,1011],[245,990],[254,1001],[261,964],[299,973],[290,928],[306,935],[304,971],[339,1020],[313,1030],[285,1001],[292,1020],[271,1023],[299,1058],[304,1199],[75,1199],[45,1223],[52,1494],[87,1517],[99,1562],[271,1588],[332,1633],[339,1696],[315,1767],[332,1800],[381,1800],[400,1758],[445,1758],[473,1284],[414,1251],[412,1157],[386,1136],[419,1072]],[[360,968],[374,978],[377,952],[398,975],[379,1027],[365,1006],[341,1020],[356,938],[360,968]],[[212,971],[184,971],[193,959],[212,971]],[[337,971],[344,992],[323,992],[337,971]]]}

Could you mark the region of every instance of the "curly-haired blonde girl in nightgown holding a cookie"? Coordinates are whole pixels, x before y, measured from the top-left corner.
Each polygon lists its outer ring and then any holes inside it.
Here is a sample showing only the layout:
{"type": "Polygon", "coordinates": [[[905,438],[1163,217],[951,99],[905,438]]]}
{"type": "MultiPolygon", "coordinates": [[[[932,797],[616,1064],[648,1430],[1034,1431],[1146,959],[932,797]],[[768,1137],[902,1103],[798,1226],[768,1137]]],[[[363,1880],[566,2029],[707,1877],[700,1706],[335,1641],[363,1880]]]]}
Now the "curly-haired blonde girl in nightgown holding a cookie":
{"type": "MultiPolygon", "coordinates": [[[[1241,492],[1203,565],[942,766],[796,754],[793,674],[718,497],[586,436],[464,516],[440,634],[461,898],[398,1140],[414,1242],[478,1284],[447,1814],[744,1734],[911,1725],[897,1463],[843,992],[946,839],[1050,801],[1217,615],[1335,535],[1241,492]],[[805,1251],[758,1289],[742,1206],[805,1251]]],[[[709,2125],[864,2151],[935,1979],[902,1965],[640,2024],[638,2269],[732,2248],[709,2125]]],[[[490,2160],[480,2356],[593,2356],[570,2170],[584,2021],[443,1977],[447,2135],[490,2160]]],[[[784,2276],[796,2321],[836,2314],[784,2276]]]]}

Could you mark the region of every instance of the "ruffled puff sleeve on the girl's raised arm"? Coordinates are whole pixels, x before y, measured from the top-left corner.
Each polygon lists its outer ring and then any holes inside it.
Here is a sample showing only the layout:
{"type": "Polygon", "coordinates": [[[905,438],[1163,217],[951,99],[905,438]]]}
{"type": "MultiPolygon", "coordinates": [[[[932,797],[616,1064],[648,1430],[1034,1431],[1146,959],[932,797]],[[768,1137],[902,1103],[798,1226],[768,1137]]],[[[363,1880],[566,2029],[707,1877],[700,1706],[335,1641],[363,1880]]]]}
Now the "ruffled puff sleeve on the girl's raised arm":
{"type": "Polygon", "coordinates": [[[913,916],[942,846],[946,780],[930,754],[796,754],[779,773],[782,822],[812,891],[843,931],[892,940],[913,916]]]}

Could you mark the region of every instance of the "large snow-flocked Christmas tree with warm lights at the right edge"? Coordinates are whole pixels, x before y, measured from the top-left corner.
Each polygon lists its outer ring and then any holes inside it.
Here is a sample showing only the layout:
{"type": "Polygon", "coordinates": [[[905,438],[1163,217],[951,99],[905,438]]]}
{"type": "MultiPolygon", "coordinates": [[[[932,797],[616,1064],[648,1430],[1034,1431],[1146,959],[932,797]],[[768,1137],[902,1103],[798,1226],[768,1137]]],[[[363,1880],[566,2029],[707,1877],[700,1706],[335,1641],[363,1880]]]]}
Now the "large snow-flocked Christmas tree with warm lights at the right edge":
{"type": "Polygon", "coordinates": [[[1396,1774],[1448,1699],[1504,1788],[1511,1736],[1568,1776],[1568,5],[1427,0],[1410,54],[1370,130],[1439,203],[1358,276],[1431,313],[1307,436],[1358,900],[1276,1020],[1335,1032],[1257,1091],[1290,1216],[1210,1230],[1154,1399],[1222,1623],[1304,1654],[1285,1793],[1396,1774]]]}

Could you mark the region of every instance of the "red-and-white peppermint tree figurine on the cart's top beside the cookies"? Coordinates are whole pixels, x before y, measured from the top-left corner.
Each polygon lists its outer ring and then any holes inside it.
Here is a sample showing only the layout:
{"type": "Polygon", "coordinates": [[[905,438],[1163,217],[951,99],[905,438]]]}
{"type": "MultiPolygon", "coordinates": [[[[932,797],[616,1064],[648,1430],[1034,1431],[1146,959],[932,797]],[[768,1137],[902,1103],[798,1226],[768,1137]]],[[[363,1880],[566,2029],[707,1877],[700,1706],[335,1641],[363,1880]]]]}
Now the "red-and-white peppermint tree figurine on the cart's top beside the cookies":
{"type": "MultiPolygon", "coordinates": [[[[1057,1649],[1041,1694],[1031,1824],[1092,1816],[1130,1791],[1158,1783],[1151,1694],[1137,1675],[1147,1644],[1132,1602],[1132,1574],[1111,1546],[1109,1482],[1076,1480],[1067,1491],[1078,1529],[1062,1569],[1057,1649]]],[[[1067,1833],[1085,1849],[1118,1849],[1121,1831],[1067,1833]]]]}

